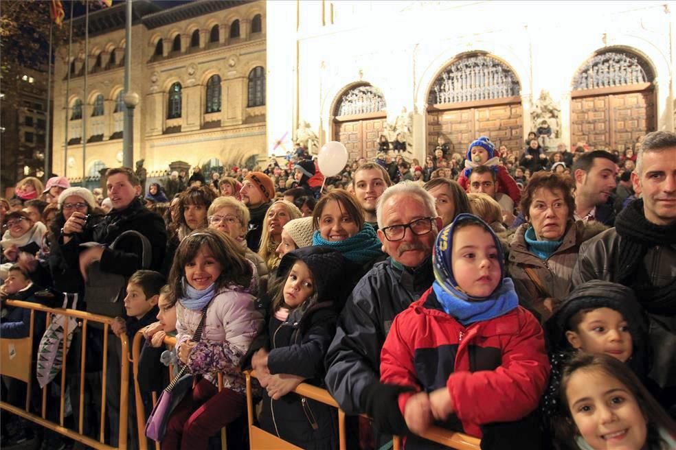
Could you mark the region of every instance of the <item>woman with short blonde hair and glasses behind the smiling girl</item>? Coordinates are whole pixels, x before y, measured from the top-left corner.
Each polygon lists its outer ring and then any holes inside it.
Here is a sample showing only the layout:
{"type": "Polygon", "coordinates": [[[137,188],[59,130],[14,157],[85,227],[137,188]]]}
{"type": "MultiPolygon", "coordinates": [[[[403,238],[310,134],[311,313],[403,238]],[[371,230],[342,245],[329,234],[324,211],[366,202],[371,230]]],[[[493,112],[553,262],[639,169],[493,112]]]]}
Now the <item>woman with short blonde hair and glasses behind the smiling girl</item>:
{"type": "Polygon", "coordinates": [[[267,285],[268,268],[265,261],[247,247],[245,237],[249,229],[249,209],[234,197],[218,197],[209,206],[207,221],[209,228],[223,231],[244,248],[244,257],[254,263],[258,269],[258,292],[262,294],[267,285]]]}

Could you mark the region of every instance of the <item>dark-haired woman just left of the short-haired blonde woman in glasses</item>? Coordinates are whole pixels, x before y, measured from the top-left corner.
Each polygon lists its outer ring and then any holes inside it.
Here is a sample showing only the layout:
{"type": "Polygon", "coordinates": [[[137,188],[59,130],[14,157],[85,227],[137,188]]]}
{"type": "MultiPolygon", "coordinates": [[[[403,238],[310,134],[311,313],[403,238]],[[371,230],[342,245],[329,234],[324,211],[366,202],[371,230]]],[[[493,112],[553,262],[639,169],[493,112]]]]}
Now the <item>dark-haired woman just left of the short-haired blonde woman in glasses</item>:
{"type": "Polygon", "coordinates": [[[167,227],[167,248],[162,263],[162,274],[169,275],[169,270],[174,261],[174,253],[184,237],[194,230],[207,228],[207,210],[216,200],[216,193],[208,186],[191,186],[185,189],[179,196],[179,201],[174,204],[172,200],[170,214],[172,224],[167,227]]]}

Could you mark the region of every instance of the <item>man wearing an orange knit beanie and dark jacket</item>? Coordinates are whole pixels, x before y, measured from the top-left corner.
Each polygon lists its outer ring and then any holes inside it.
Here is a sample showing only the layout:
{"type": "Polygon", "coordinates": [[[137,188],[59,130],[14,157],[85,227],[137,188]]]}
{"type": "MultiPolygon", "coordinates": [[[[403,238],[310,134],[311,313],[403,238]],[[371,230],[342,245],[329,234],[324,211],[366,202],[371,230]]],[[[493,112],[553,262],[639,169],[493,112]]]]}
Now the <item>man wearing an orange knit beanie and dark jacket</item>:
{"type": "MultiPolygon", "coordinates": [[[[244,171],[244,169],[242,169],[244,171]]],[[[275,198],[275,184],[262,172],[249,172],[242,181],[240,189],[242,202],[249,208],[251,220],[247,232],[247,247],[258,252],[260,237],[263,233],[263,219],[267,209],[275,198]]]]}

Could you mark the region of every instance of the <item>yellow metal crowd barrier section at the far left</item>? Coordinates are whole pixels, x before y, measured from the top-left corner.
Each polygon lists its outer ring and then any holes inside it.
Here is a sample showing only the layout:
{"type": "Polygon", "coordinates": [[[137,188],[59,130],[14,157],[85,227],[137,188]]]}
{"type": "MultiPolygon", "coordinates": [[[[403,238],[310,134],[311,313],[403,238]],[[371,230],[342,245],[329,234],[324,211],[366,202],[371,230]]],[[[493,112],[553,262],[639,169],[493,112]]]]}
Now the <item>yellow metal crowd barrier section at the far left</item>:
{"type": "MultiPolygon", "coordinates": [[[[127,442],[127,416],[128,416],[128,394],[129,394],[129,359],[124,357],[128,355],[128,338],[125,334],[120,336],[120,341],[122,344],[122,357],[120,358],[120,429],[118,434],[118,446],[111,447],[105,442],[105,424],[106,424],[106,375],[108,370],[108,339],[109,339],[109,327],[113,323],[113,318],[107,316],[99,316],[97,314],[91,314],[84,311],[77,311],[75,309],[63,309],[63,308],[48,308],[43,305],[38,305],[37,303],[24,302],[19,300],[7,300],[7,305],[13,307],[19,307],[24,309],[30,309],[30,331],[28,337],[22,339],[0,339],[0,351],[2,353],[2,364],[0,366],[0,374],[8,377],[20,379],[27,383],[26,390],[26,403],[25,408],[16,407],[10,405],[5,401],[0,401],[0,408],[21,416],[28,421],[32,421],[42,427],[56,431],[67,438],[71,438],[78,442],[82,442],[84,445],[93,447],[94,449],[104,449],[104,450],[126,450],[127,442]],[[67,339],[64,339],[63,349],[63,366],[61,367],[61,379],[60,379],[60,402],[59,402],[59,420],[58,423],[47,420],[47,389],[50,388],[50,384],[47,384],[42,390],[42,407],[41,415],[36,416],[30,412],[31,404],[31,389],[32,383],[36,382],[35,374],[32,373],[32,342],[33,342],[33,333],[34,333],[34,320],[35,320],[35,311],[43,311],[47,313],[47,327],[51,322],[52,316],[50,313],[60,314],[62,316],[67,316],[69,318],[76,318],[82,320],[82,349],[80,355],[80,395],[79,395],[79,421],[77,430],[64,427],[64,414],[65,414],[65,390],[66,390],[66,368],[67,368],[67,339]],[[87,325],[89,322],[94,322],[101,324],[103,329],[103,345],[102,345],[102,383],[101,383],[101,417],[100,417],[100,432],[99,439],[95,440],[89,436],[85,436],[82,431],[84,427],[84,366],[85,366],[85,357],[87,349],[87,339],[85,338],[87,333],[87,325]]],[[[63,335],[68,335],[68,320],[64,321],[65,329],[63,330],[63,335]]]]}

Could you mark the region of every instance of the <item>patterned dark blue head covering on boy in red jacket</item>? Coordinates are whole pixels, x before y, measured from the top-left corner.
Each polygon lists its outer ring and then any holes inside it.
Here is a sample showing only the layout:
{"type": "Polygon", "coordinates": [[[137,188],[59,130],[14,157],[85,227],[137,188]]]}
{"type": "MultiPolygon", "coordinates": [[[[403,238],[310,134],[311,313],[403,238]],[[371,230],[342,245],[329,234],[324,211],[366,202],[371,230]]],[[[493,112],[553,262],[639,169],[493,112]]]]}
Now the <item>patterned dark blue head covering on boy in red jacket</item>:
{"type": "Polygon", "coordinates": [[[455,217],[455,220],[453,220],[451,224],[444,226],[437,235],[436,241],[434,242],[434,252],[432,254],[434,279],[442,286],[451,285],[454,288],[458,287],[458,282],[455,281],[455,276],[453,276],[453,265],[451,262],[451,258],[453,257],[453,233],[455,233],[455,228],[459,224],[464,224],[465,222],[472,222],[472,224],[482,226],[484,230],[486,230],[486,233],[490,233],[491,237],[493,237],[493,241],[495,241],[495,251],[497,252],[497,259],[500,263],[501,274],[501,281],[495,287],[495,291],[497,291],[502,287],[503,279],[506,276],[502,244],[500,244],[497,235],[495,235],[495,232],[491,227],[473,214],[458,214],[458,216],[455,217]]]}

